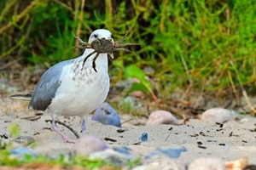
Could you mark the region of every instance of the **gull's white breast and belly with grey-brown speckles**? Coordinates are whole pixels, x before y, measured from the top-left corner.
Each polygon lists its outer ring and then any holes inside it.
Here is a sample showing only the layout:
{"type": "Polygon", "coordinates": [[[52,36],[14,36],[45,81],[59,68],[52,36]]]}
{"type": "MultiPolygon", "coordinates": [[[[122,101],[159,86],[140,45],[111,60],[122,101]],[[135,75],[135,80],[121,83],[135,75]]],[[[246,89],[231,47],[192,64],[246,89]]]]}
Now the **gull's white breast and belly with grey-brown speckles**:
{"type": "Polygon", "coordinates": [[[96,71],[92,68],[92,55],[82,64],[81,56],[72,65],[63,68],[61,86],[57,89],[47,111],[53,116],[80,116],[82,119],[94,111],[107,98],[109,91],[108,55],[96,59],[96,71]]]}

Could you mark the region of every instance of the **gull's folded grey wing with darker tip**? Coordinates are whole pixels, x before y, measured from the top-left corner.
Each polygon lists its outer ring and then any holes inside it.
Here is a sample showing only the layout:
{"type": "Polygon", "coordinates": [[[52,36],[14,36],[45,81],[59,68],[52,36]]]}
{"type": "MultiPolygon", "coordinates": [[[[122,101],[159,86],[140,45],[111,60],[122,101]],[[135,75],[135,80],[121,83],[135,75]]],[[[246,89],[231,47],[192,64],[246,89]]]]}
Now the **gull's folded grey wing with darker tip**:
{"type": "Polygon", "coordinates": [[[55,97],[57,88],[61,85],[59,80],[63,67],[72,64],[72,62],[73,59],[62,61],[44,72],[38,82],[36,90],[32,94],[28,108],[32,107],[32,109],[38,111],[45,111],[47,109],[48,105],[51,103],[51,99],[55,97]]]}

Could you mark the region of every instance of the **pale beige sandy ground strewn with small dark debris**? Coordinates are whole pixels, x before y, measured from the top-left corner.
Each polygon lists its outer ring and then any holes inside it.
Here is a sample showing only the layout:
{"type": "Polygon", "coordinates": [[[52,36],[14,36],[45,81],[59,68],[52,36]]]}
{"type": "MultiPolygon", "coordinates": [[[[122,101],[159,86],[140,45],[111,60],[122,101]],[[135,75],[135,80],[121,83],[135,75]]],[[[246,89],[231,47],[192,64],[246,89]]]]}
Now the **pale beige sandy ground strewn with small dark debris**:
{"type": "MultiPolygon", "coordinates": [[[[61,137],[52,131],[49,115],[38,114],[37,111],[27,111],[24,101],[1,99],[0,134],[9,135],[12,123],[19,125],[20,135],[32,136],[36,140],[36,150],[48,155],[58,155],[72,150],[73,144],[63,143],[61,137]]],[[[232,161],[247,157],[248,164],[256,164],[256,118],[253,116],[237,115],[233,120],[225,122],[223,126],[202,122],[199,119],[189,119],[185,125],[153,125],[145,126],[147,118],[131,115],[120,115],[123,132],[119,127],[103,125],[91,121],[91,115],[86,121],[86,134],[104,140],[110,147],[128,146],[137,156],[148,156],[157,147],[184,147],[177,158],[185,165],[198,157],[220,157],[224,161],[232,161]],[[148,133],[148,141],[140,142],[143,133],[148,133]],[[110,140],[109,140],[110,139],[110,140]]],[[[70,127],[80,133],[81,119],[79,117],[60,117],[70,127]]],[[[179,122],[183,120],[179,119],[179,122]]],[[[66,127],[61,131],[71,139],[74,134],[66,127]]]]}

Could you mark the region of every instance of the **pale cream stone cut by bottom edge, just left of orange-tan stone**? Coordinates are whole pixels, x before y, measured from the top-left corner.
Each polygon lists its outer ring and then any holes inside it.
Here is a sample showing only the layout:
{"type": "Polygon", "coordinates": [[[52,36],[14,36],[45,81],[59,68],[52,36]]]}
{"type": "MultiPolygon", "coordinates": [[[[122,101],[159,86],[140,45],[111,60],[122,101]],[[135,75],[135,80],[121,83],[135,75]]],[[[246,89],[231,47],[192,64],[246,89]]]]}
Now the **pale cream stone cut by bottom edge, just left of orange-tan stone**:
{"type": "Polygon", "coordinates": [[[200,157],[189,164],[188,170],[225,170],[224,161],[218,157],[200,157]]]}

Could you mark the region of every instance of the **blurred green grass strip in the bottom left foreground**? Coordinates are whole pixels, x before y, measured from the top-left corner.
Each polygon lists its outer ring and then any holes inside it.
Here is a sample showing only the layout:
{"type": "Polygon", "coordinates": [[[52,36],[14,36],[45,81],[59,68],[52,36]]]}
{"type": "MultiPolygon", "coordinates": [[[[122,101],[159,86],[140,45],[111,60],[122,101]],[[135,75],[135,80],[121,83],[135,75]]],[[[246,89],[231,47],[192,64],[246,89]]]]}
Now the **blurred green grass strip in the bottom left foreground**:
{"type": "MultiPolygon", "coordinates": [[[[13,138],[20,135],[20,127],[16,124],[10,124],[9,133],[13,138]]],[[[31,144],[32,145],[32,144],[31,144]]],[[[30,145],[30,146],[31,146],[30,145]]],[[[35,145],[35,144],[34,144],[35,145]]],[[[45,169],[51,169],[53,167],[61,167],[61,169],[73,169],[74,167],[84,167],[86,169],[100,169],[101,167],[108,168],[109,170],[118,170],[120,167],[114,166],[112,162],[90,159],[88,156],[59,156],[58,158],[50,158],[43,155],[30,155],[25,154],[17,156],[11,153],[14,150],[14,146],[11,142],[3,143],[0,139],[0,168],[1,166],[9,167],[22,167],[22,166],[37,166],[37,168],[47,167],[45,169]]],[[[139,160],[127,162],[127,166],[136,166],[140,163],[139,160]]],[[[60,169],[60,168],[58,168],[60,169]]]]}

